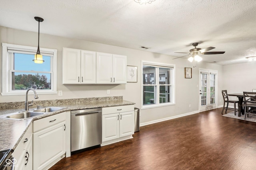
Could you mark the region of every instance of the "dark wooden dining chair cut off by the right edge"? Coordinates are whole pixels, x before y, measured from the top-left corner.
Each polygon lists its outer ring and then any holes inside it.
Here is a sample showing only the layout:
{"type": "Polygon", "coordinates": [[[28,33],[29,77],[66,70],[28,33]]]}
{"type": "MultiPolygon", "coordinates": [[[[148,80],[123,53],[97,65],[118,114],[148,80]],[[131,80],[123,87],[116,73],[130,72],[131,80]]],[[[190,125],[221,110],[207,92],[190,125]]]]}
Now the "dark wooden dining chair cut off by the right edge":
{"type": "Polygon", "coordinates": [[[256,92],[244,92],[244,119],[249,117],[249,114],[255,114],[256,109],[256,92]]]}

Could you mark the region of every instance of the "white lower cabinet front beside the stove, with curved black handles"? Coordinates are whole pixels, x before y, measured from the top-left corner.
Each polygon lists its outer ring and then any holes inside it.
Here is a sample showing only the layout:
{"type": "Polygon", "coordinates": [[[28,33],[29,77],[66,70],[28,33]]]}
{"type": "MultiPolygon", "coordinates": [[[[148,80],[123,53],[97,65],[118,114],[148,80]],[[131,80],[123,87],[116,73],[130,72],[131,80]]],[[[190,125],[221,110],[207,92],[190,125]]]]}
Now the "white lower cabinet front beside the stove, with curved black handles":
{"type": "Polygon", "coordinates": [[[32,125],[28,127],[20,143],[12,153],[16,159],[15,170],[33,169],[33,150],[32,150],[32,125]]]}

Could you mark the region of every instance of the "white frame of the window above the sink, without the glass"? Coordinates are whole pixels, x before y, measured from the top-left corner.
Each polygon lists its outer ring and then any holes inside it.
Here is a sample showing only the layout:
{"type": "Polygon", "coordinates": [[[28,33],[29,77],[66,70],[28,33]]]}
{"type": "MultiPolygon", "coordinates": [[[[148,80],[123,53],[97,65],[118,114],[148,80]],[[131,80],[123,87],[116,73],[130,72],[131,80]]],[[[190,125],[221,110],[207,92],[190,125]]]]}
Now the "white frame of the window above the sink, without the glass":
{"type": "MultiPolygon", "coordinates": [[[[15,45],[2,43],[2,96],[14,96],[14,95],[25,95],[27,90],[12,90],[11,86],[11,78],[12,78],[12,63],[13,61],[13,53],[8,52],[8,48],[14,49],[11,51],[15,51],[15,49],[22,49],[21,53],[25,51],[27,54],[36,54],[38,47],[24,46],[24,45],[15,45]]],[[[51,88],[50,90],[37,89],[37,94],[57,94],[57,49],[47,49],[40,48],[42,55],[48,55],[51,57],[51,88]]],[[[26,54],[26,53],[25,53],[26,54]]]]}

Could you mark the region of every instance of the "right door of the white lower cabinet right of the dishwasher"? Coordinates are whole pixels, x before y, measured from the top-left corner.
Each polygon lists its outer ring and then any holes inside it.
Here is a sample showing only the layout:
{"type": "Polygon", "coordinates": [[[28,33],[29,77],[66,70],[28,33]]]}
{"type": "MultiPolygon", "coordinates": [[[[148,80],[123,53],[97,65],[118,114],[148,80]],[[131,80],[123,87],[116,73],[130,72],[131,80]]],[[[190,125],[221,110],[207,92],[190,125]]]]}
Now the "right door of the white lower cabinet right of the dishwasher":
{"type": "Polygon", "coordinates": [[[134,134],[134,111],[120,113],[120,137],[134,134]]]}

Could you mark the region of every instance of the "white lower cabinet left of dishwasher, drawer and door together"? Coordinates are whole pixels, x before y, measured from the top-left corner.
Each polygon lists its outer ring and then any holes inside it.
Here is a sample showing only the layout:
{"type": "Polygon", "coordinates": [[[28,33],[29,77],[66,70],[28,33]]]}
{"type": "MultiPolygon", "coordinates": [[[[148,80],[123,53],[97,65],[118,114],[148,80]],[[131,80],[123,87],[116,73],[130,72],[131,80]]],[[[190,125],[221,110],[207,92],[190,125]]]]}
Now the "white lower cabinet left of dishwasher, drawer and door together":
{"type": "Polygon", "coordinates": [[[66,153],[66,112],[33,122],[33,170],[48,169],[66,153]]]}

